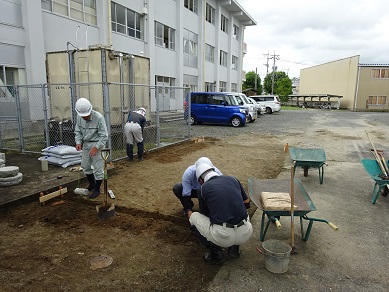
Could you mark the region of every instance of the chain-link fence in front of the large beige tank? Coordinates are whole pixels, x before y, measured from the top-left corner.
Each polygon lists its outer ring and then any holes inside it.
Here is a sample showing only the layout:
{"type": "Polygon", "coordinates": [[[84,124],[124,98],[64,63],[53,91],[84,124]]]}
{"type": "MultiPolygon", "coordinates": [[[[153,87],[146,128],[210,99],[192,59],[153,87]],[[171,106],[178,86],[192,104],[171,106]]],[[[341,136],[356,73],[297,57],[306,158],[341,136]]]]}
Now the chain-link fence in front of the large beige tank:
{"type": "Polygon", "coordinates": [[[189,88],[125,83],[0,86],[0,149],[40,153],[75,145],[75,103],[90,100],[104,115],[112,160],[126,157],[124,124],[130,111],[147,110],[143,138],[152,150],[189,139],[189,88]]]}

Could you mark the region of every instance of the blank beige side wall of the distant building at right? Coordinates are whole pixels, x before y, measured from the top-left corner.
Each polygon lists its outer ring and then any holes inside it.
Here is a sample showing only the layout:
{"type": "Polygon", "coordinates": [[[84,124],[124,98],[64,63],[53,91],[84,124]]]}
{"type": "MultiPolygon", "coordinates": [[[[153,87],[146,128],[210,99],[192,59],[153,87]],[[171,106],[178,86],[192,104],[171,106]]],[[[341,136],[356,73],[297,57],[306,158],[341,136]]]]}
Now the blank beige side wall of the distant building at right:
{"type": "Polygon", "coordinates": [[[302,69],[299,94],[334,94],[343,96],[340,107],[353,110],[357,89],[359,56],[302,69]]]}

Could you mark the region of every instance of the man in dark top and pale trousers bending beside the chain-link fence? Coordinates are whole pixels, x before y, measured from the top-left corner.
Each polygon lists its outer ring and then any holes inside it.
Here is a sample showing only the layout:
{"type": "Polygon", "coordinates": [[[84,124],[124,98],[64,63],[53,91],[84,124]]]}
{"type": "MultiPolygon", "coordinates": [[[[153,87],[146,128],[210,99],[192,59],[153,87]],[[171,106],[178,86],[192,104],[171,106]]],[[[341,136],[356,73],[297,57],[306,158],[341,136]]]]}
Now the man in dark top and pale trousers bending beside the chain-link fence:
{"type": "Polygon", "coordinates": [[[128,114],[127,123],[124,125],[124,134],[126,135],[128,160],[134,160],[134,142],[138,147],[138,160],[143,160],[144,141],[143,130],[146,125],[146,109],[138,108],[128,114]]]}

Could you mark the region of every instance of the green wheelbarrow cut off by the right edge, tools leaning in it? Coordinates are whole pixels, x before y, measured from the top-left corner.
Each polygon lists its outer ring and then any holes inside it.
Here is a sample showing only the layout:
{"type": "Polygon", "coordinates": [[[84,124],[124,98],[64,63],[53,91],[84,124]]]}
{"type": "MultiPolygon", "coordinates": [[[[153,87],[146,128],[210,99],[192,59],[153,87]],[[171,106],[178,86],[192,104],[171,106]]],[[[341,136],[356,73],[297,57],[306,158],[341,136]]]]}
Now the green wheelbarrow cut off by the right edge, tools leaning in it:
{"type": "Polygon", "coordinates": [[[383,196],[388,195],[388,187],[387,186],[389,185],[389,180],[381,177],[382,171],[380,169],[380,166],[378,165],[377,160],[375,160],[375,159],[362,159],[361,162],[362,162],[362,165],[365,168],[366,172],[375,181],[374,189],[373,189],[373,197],[371,199],[372,204],[375,204],[380,193],[383,196]]]}

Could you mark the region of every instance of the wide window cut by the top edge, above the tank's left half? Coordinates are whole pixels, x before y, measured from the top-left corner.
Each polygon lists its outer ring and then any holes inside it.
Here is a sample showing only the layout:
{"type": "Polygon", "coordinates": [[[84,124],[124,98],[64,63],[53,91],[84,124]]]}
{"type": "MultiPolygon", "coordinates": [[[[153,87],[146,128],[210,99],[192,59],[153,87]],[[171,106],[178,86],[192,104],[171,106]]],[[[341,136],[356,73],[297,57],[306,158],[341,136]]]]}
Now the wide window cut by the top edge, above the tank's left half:
{"type": "Polygon", "coordinates": [[[41,7],[92,25],[97,25],[96,0],[41,0],[41,7]]]}

